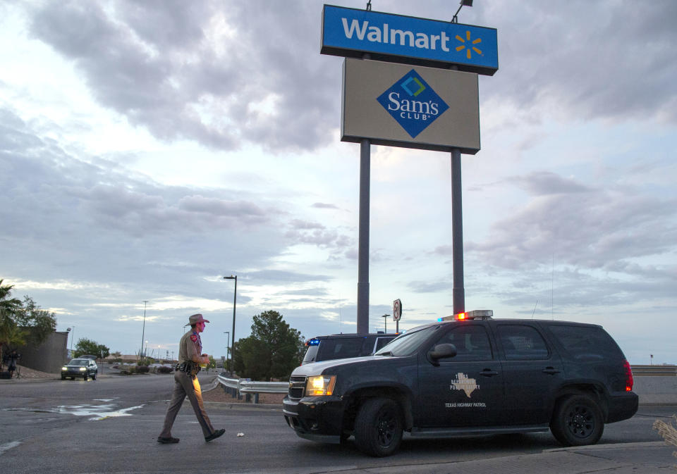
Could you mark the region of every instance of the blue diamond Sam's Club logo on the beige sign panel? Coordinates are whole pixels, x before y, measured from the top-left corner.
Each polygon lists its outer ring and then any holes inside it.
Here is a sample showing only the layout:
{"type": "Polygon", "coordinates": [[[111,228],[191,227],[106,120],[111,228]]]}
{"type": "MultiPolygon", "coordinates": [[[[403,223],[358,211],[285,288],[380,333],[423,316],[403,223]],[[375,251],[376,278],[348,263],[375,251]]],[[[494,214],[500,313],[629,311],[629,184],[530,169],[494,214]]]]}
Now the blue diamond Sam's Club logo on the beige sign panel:
{"type": "Polygon", "coordinates": [[[415,70],[410,70],[377,101],[412,138],[449,108],[415,70]]]}

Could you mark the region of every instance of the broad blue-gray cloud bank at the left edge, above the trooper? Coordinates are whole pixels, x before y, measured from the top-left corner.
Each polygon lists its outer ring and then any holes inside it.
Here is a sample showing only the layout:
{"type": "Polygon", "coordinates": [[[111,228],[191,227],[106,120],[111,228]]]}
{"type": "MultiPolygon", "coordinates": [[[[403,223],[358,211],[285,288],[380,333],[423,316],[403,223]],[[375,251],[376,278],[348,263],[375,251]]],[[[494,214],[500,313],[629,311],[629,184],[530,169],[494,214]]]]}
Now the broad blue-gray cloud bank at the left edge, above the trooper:
{"type": "Polygon", "coordinates": [[[0,221],[13,242],[5,271],[30,274],[35,266],[45,278],[155,286],[168,277],[218,275],[219,262],[265,266],[285,247],[271,225],[280,213],[266,197],[161,186],[117,163],[73,158],[11,111],[0,115],[11,119],[0,128],[0,221]],[[7,142],[23,149],[6,151],[7,142]]]}

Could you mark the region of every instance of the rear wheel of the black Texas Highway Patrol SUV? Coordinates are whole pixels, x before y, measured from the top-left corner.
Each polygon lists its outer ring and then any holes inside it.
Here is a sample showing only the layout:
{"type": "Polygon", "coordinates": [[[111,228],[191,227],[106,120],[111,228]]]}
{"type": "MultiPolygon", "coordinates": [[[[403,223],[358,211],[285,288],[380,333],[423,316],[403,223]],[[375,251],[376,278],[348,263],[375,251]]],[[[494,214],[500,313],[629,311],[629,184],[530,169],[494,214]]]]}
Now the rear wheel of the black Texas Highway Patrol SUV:
{"type": "Polygon", "coordinates": [[[550,430],[564,446],[594,444],[604,431],[602,411],[587,395],[570,395],[557,405],[550,430]]]}

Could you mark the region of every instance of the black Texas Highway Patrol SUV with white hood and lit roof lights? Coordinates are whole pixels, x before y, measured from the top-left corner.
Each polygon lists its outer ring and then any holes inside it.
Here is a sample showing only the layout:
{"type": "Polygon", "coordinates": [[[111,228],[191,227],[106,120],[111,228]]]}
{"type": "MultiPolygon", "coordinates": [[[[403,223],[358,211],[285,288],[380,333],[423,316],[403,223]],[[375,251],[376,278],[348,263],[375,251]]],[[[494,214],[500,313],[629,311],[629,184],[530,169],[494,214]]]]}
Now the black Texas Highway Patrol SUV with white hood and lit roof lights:
{"type": "Polygon", "coordinates": [[[283,401],[302,438],[389,456],[402,439],[551,430],[594,444],[635,414],[633,373],[599,325],[470,311],[408,330],[374,356],[296,368],[283,401]]]}

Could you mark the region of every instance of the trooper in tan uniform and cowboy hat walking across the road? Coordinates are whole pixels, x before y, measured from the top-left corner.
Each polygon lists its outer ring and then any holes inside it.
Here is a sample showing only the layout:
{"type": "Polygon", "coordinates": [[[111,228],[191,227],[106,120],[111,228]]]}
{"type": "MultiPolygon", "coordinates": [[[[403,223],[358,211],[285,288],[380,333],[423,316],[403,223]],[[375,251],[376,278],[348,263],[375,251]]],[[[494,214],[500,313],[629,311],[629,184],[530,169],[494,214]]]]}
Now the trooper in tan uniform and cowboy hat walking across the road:
{"type": "Polygon", "coordinates": [[[174,370],[174,391],[164,417],[162,432],[157,437],[159,443],[178,443],[178,438],[171,435],[171,426],[185,397],[188,397],[193,406],[193,411],[195,411],[195,416],[200,423],[206,442],[212,441],[212,439],[216,439],[226,432],[223,428],[214,430],[212,422],[209,421],[205,412],[205,406],[202,404],[202,391],[200,390],[200,382],[197,381],[200,364],[209,363],[209,356],[202,354],[202,341],[200,340],[200,332],[205,330],[205,323],[209,323],[209,321],[202,318],[201,314],[190,316],[188,318],[190,330],[181,337],[181,342],[178,343],[178,364],[176,364],[176,370],[174,370]]]}

